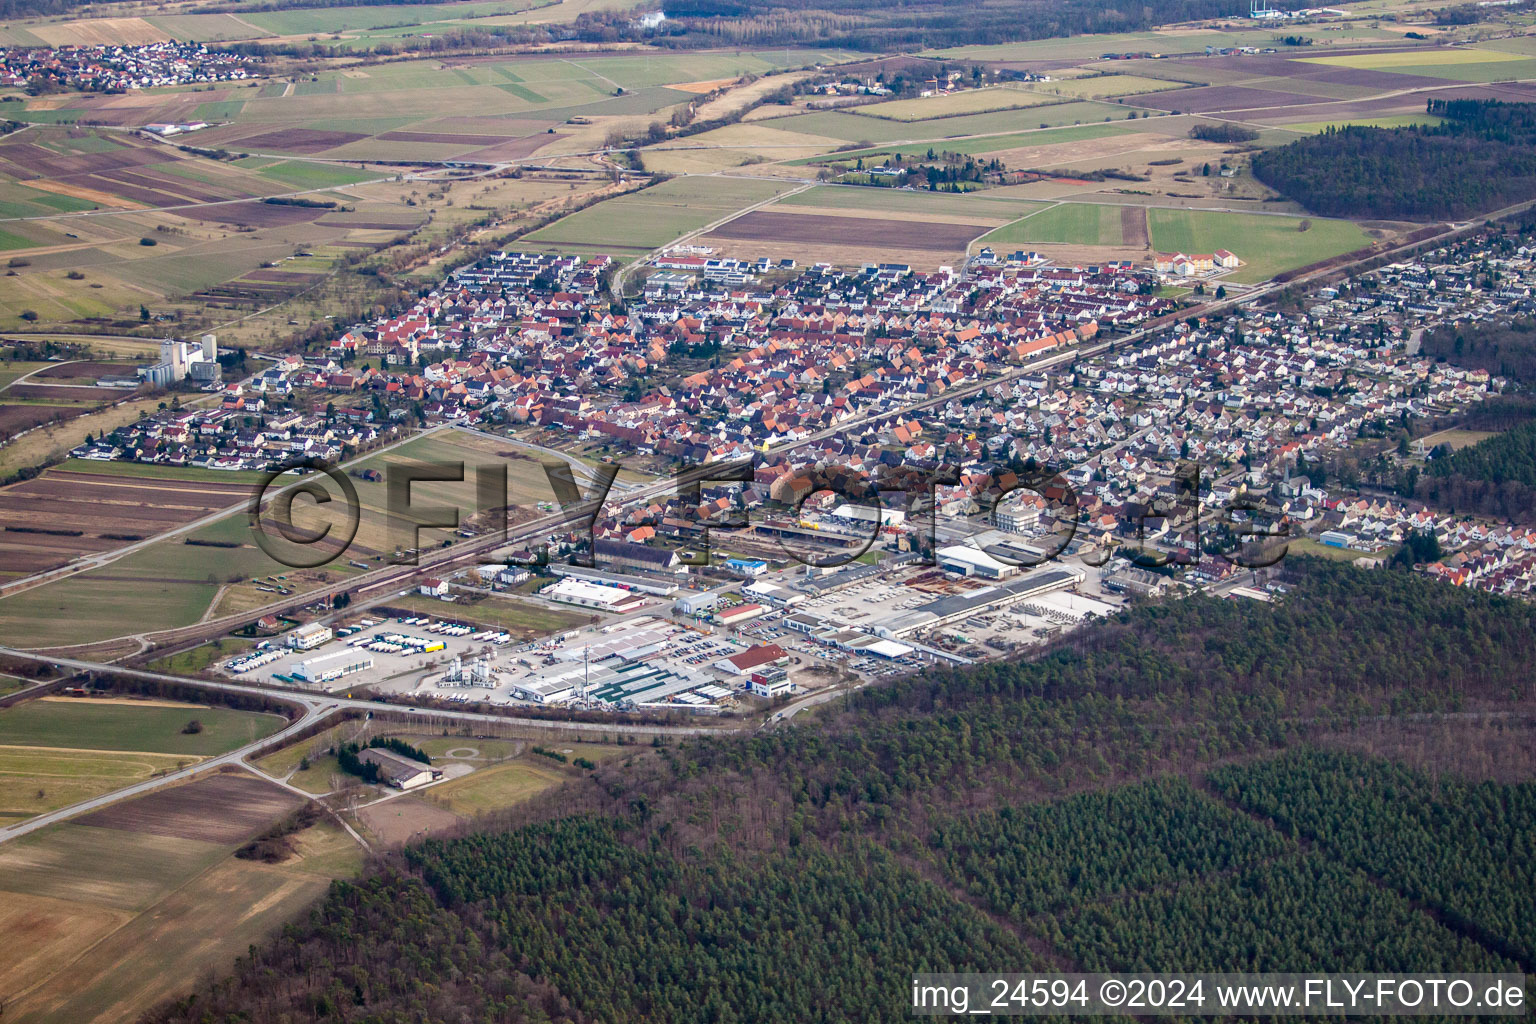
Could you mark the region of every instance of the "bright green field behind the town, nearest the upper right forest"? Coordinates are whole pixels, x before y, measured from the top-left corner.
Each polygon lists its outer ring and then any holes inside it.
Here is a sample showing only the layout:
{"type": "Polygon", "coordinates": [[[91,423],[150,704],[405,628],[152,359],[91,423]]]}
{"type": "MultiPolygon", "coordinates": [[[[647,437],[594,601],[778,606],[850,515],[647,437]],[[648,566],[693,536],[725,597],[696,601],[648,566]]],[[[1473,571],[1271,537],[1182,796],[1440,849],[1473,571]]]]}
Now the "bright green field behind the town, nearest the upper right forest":
{"type": "Polygon", "coordinates": [[[1206,210],[1147,210],[1152,247],[1158,252],[1235,252],[1244,266],[1233,281],[1267,281],[1283,270],[1304,267],[1372,243],[1358,224],[1310,218],[1217,213],[1206,210]]]}

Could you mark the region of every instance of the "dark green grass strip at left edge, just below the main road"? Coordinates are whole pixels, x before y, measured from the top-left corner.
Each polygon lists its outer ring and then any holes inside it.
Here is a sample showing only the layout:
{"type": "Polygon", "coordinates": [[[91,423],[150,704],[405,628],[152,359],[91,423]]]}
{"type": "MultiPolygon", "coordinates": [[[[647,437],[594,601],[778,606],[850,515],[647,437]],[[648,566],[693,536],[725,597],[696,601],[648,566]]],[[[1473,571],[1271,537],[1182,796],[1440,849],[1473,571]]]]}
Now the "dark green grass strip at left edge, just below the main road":
{"type": "Polygon", "coordinates": [[[207,757],[232,751],[281,726],[278,715],[229,708],[43,699],[0,711],[0,745],[207,757]],[[203,731],[183,732],[194,718],[203,723],[203,731]]]}

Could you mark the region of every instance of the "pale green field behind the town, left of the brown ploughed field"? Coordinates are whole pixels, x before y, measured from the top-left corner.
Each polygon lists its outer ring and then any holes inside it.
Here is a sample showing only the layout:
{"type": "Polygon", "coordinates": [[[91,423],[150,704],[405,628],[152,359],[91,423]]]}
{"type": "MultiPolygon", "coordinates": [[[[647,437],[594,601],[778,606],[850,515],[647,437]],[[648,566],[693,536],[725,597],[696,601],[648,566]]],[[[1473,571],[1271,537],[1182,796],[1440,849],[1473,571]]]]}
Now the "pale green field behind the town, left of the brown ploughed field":
{"type": "Polygon", "coordinates": [[[790,189],[774,181],[684,178],[608,200],[542,227],[538,249],[641,255],[790,189]]]}

